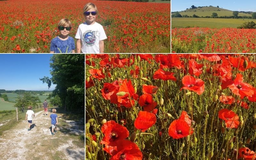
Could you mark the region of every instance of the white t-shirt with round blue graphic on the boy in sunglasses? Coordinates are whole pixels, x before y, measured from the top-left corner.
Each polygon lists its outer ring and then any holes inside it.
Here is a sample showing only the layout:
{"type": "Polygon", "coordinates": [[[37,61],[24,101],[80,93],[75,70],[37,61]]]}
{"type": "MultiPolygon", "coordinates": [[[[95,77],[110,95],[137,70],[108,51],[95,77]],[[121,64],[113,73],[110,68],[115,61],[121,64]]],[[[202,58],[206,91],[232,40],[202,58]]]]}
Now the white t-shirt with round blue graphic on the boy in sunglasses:
{"type": "Polygon", "coordinates": [[[81,39],[83,53],[100,53],[99,43],[101,40],[107,39],[107,36],[99,23],[88,25],[84,22],[79,25],[75,38],[81,39]]]}

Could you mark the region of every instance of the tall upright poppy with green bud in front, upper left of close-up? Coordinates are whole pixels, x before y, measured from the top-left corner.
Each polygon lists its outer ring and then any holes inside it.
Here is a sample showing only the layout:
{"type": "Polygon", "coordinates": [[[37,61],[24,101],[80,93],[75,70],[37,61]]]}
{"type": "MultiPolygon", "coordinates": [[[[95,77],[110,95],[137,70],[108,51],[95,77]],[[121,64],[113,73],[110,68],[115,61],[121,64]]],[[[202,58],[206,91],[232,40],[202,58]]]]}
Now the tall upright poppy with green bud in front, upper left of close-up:
{"type": "Polygon", "coordinates": [[[138,94],[134,92],[131,80],[127,82],[127,79],[125,79],[122,82],[122,85],[119,87],[118,92],[125,92],[123,96],[117,96],[117,101],[120,103],[120,105],[123,105],[127,108],[132,107],[134,105],[134,100],[138,100],[139,98],[138,94]],[[134,100],[132,100],[132,98],[134,100]]]}

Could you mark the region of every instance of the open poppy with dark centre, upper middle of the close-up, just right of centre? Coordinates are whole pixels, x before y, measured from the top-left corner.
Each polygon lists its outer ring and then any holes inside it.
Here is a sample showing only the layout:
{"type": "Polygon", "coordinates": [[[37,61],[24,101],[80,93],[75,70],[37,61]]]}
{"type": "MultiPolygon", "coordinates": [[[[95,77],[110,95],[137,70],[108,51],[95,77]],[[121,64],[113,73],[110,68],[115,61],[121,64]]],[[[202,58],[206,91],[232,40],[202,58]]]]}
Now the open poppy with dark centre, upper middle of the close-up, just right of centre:
{"type": "Polygon", "coordinates": [[[204,81],[199,78],[196,79],[193,76],[184,76],[182,78],[182,84],[184,84],[184,86],[180,88],[180,90],[187,89],[199,95],[204,92],[204,81]]]}

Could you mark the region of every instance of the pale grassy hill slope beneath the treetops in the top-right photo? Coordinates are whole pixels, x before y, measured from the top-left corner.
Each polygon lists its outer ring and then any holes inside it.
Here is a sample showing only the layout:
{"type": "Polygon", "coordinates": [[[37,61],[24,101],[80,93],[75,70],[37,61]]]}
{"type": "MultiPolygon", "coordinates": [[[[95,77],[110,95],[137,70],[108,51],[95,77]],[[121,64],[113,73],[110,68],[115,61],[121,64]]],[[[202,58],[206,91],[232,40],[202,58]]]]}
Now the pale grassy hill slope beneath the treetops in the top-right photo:
{"type": "MultiPolygon", "coordinates": [[[[197,8],[197,9],[188,9],[182,12],[179,12],[180,15],[188,15],[192,16],[193,14],[196,14],[197,16],[212,16],[212,13],[215,12],[218,14],[218,16],[232,16],[233,11],[227,10],[227,9],[222,9],[222,8],[217,8],[217,7],[203,7],[203,8],[197,8]],[[218,11],[220,10],[220,11],[218,11]]],[[[173,13],[172,13],[173,14],[173,13]]],[[[238,13],[238,16],[250,16],[252,17],[251,14],[246,14],[246,13],[238,13]]]]}

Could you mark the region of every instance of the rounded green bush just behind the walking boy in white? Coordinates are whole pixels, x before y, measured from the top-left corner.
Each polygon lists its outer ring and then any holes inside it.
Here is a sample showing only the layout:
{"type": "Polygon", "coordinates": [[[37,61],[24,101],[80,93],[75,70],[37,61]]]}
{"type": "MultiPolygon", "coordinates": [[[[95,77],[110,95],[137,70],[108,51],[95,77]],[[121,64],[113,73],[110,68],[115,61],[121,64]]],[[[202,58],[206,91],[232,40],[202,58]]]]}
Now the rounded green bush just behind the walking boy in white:
{"type": "Polygon", "coordinates": [[[18,95],[16,102],[14,107],[17,107],[21,112],[24,112],[28,106],[36,106],[36,103],[40,103],[41,101],[38,96],[34,97],[30,93],[24,92],[18,95]]]}

